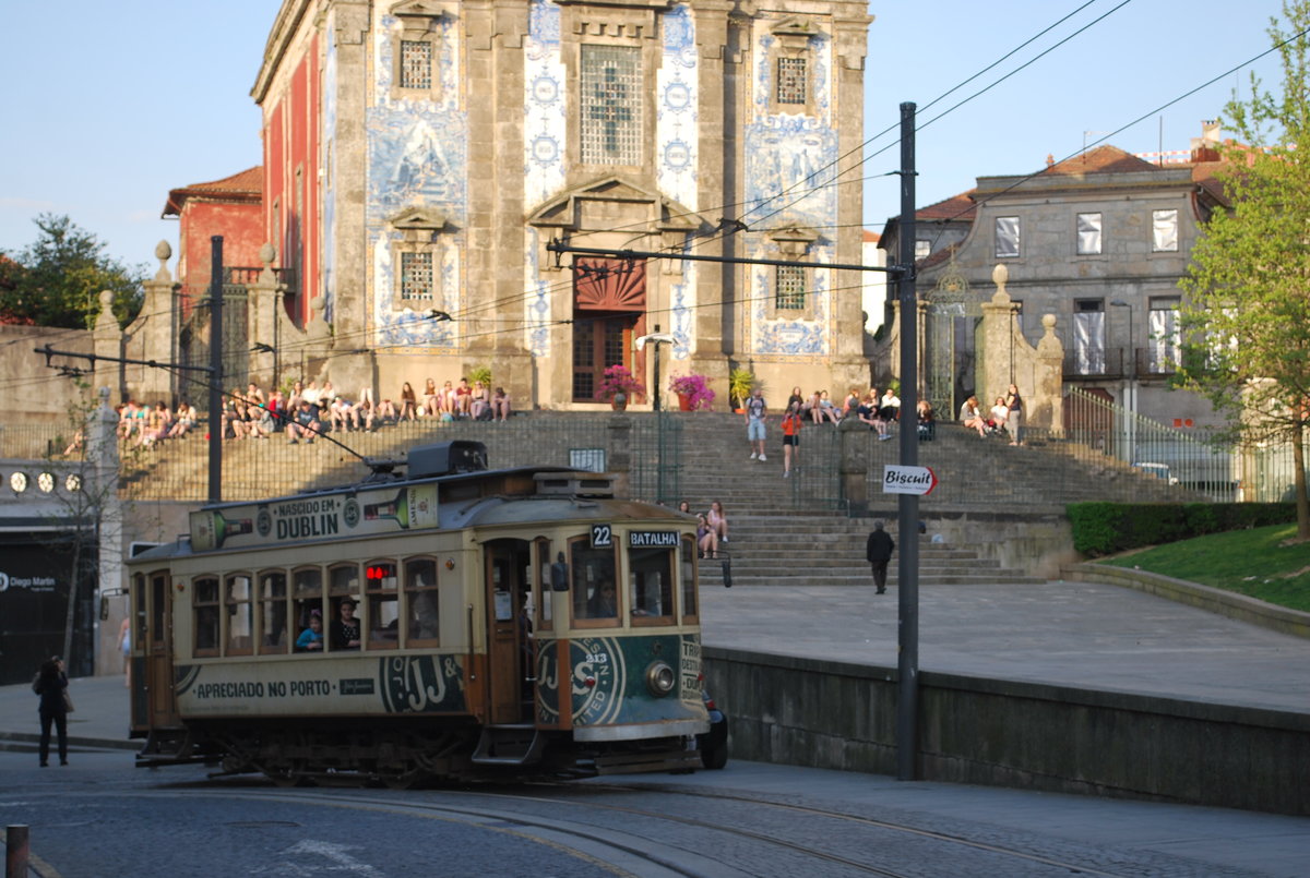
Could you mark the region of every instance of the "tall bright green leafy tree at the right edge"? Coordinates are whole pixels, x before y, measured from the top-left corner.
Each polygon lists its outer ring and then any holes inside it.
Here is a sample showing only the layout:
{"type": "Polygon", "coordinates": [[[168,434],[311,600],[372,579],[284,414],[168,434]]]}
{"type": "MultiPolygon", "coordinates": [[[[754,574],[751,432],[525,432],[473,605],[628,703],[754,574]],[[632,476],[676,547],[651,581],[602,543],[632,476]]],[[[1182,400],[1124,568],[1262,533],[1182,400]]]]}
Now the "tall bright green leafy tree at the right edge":
{"type": "Polygon", "coordinates": [[[1269,21],[1281,90],[1252,75],[1222,124],[1218,177],[1231,204],[1192,250],[1182,288],[1179,379],[1246,440],[1290,442],[1297,536],[1310,539],[1305,430],[1310,424],[1310,0],[1284,0],[1269,21]]]}

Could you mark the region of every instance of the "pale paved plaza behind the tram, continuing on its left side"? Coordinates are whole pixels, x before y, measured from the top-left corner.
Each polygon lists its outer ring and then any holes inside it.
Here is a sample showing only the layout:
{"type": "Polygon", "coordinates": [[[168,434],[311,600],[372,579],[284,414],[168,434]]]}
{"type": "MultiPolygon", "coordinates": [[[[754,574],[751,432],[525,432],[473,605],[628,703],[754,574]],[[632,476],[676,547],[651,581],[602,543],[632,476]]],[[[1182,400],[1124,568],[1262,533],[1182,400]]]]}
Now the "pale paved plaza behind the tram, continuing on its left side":
{"type": "MultiPolygon", "coordinates": [[[[706,645],[896,667],[897,590],[707,588],[706,645]]],[[[1112,585],[920,589],[921,670],[1310,713],[1310,640],[1112,585]]],[[[75,678],[69,743],[135,750],[121,675],[75,678]]],[[[35,745],[37,697],[0,687],[0,747],[35,745]]],[[[12,747],[10,747],[12,748],[12,747]]]]}

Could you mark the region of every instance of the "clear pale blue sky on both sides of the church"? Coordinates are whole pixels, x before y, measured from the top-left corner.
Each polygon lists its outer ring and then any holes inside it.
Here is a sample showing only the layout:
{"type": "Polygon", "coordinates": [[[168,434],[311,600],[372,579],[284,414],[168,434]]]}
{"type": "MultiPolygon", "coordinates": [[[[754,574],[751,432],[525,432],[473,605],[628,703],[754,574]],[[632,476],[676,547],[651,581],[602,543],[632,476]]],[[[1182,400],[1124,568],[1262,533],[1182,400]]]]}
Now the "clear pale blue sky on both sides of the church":
{"type": "MultiPolygon", "coordinates": [[[[109,255],[153,273],[156,243],[177,249],[177,221],[160,219],[169,190],[259,164],[250,88],[278,8],[278,0],[64,0],[56,21],[47,4],[0,0],[8,37],[0,251],[31,243],[37,215],[67,215],[109,255]]],[[[1252,71],[1277,86],[1276,55],[1221,75],[1269,48],[1269,18],[1280,12],[1280,0],[871,3],[866,226],[880,232],[900,209],[897,178],[888,174],[900,164],[903,102],[918,105],[920,207],[971,188],[980,175],[1040,170],[1048,154],[1074,156],[1115,131],[1106,141],[1128,152],[1187,149],[1201,120],[1218,116],[1252,71]]]]}

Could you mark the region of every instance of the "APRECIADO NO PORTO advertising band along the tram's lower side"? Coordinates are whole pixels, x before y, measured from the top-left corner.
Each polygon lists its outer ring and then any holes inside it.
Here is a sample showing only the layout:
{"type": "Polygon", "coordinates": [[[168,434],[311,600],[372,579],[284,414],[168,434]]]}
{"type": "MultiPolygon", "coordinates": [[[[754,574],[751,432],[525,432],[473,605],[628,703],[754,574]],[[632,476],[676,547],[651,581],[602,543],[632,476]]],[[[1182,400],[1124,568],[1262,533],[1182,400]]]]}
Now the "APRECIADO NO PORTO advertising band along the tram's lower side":
{"type": "Polygon", "coordinates": [[[178,665],[183,717],[465,713],[460,656],[178,665]]]}

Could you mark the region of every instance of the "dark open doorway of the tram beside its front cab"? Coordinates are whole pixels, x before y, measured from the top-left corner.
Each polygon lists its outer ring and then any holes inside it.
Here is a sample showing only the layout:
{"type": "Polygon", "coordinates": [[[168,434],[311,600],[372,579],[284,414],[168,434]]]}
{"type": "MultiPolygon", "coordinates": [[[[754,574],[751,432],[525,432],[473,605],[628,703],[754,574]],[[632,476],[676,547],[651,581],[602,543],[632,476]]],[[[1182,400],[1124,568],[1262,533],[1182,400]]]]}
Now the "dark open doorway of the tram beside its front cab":
{"type": "Polygon", "coordinates": [[[486,557],[489,717],[493,724],[523,722],[532,713],[531,640],[524,599],[529,591],[532,544],[496,539],[486,557]]]}

